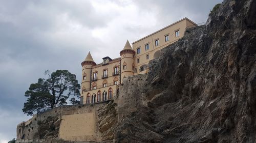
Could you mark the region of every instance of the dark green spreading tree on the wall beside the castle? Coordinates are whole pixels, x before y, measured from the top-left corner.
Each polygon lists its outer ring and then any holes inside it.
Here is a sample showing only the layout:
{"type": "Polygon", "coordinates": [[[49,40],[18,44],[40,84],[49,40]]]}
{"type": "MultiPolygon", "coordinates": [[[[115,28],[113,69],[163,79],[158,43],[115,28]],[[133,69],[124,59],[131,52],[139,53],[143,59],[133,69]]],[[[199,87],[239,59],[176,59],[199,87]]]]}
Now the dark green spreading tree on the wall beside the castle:
{"type": "Polygon", "coordinates": [[[24,103],[23,112],[33,115],[34,112],[42,112],[57,106],[67,104],[79,104],[75,97],[80,97],[80,85],[76,76],[68,70],[56,70],[50,73],[46,70],[47,79],[39,78],[37,83],[30,84],[29,90],[25,92],[28,97],[24,103]],[[73,95],[73,96],[71,96],[73,95]]]}

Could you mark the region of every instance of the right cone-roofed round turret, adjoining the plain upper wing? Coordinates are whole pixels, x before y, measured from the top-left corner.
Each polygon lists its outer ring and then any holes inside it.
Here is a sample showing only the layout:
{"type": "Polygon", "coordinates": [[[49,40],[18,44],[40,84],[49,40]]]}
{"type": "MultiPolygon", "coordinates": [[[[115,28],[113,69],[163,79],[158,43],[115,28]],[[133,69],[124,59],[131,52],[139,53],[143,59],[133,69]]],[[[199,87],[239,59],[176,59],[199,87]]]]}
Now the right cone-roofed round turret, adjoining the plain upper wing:
{"type": "Polygon", "coordinates": [[[129,41],[127,40],[123,50],[120,51],[121,83],[123,82],[123,77],[134,75],[134,54],[135,51],[132,49],[129,41]]]}

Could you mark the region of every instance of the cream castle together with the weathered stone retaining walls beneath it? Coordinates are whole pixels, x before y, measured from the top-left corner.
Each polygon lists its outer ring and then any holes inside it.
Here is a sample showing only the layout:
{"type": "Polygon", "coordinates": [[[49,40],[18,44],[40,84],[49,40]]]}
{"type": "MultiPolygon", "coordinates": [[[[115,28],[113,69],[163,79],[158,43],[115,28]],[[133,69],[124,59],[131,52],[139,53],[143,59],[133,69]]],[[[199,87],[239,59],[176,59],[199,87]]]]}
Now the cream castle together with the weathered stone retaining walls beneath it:
{"type": "Polygon", "coordinates": [[[144,104],[135,93],[141,94],[148,63],[159,58],[161,49],[181,39],[187,28],[196,26],[183,18],[133,42],[132,46],[127,41],[119,58],[106,56],[100,64],[94,62],[89,52],[81,63],[81,104],[58,106],[33,115],[17,125],[16,142],[47,142],[47,139],[112,142],[114,125],[126,113],[137,110],[137,105],[144,104]],[[134,86],[136,89],[131,89],[134,86]],[[110,101],[113,97],[115,100],[110,101]]]}

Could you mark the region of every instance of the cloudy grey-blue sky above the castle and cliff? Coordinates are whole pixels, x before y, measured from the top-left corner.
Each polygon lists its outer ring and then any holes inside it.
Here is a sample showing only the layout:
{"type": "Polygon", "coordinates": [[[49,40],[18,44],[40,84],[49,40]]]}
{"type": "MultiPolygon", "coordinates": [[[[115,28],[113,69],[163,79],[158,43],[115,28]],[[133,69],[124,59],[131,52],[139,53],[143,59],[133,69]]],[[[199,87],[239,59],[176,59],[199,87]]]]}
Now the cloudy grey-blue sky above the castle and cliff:
{"type": "Polygon", "coordinates": [[[184,17],[205,22],[222,0],[0,0],[0,143],[26,121],[23,104],[31,83],[46,69],[67,69],[80,82],[80,63],[118,58],[130,43],[184,17]]]}

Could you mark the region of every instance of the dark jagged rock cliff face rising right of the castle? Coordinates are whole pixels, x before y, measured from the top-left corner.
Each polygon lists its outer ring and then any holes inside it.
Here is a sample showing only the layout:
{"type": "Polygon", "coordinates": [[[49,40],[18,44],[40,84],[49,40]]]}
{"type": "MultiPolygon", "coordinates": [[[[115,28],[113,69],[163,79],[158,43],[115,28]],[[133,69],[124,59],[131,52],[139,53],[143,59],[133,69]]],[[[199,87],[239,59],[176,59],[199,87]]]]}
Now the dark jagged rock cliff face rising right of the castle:
{"type": "MultiPolygon", "coordinates": [[[[256,1],[226,0],[151,62],[117,142],[256,142],[256,1]]],[[[134,87],[135,88],[135,87],[134,87]]]]}

